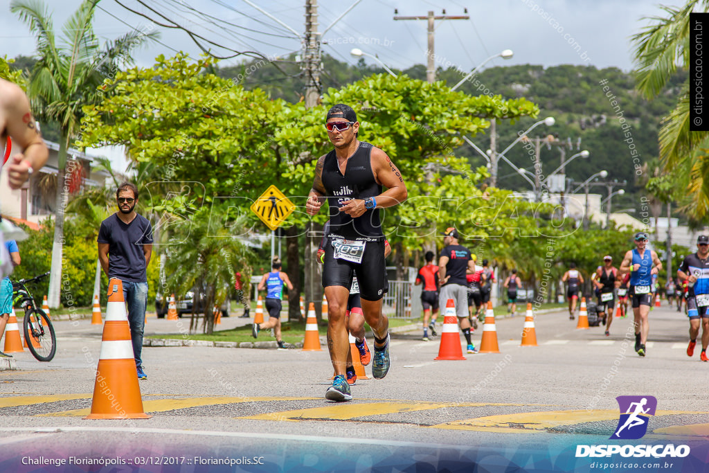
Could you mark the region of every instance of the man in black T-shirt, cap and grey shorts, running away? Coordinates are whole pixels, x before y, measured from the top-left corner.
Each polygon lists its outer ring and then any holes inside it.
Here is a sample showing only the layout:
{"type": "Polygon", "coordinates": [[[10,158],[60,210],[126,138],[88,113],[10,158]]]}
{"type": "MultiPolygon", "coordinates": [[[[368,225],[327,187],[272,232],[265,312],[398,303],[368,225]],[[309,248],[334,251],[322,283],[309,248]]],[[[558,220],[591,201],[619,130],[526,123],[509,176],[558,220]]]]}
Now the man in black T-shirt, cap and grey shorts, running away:
{"type": "Polygon", "coordinates": [[[465,280],[465,274],[475,271],[475,262],[470,251],[463,245],[459,245],[458,230],[450,227],[443,232],[443,235],[443,249],[438,257],[438,278],[441,282],[438,305],[445,307],[448,299],[453,299],[460,330],[468,343],[468,352],[477,353],[478,350],[470,340],[470,321],[466,304],[468,288],[465,280]]]}

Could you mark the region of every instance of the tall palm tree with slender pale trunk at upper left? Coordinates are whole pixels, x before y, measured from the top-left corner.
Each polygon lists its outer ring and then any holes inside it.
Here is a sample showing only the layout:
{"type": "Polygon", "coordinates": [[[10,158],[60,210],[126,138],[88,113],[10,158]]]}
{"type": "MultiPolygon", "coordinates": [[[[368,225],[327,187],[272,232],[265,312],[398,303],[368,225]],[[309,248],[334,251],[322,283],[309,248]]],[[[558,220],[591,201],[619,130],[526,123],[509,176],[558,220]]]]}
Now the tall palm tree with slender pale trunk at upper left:
{"type": "Polygon", "coordinates": [[[41,0],[13,0],[10,10],[27,23],[37,38],[38,62],[30,73],[28,96],[40,119],[57,121],[60,126],[59,172],[57,173],[56,215],[52,245],[52,274],[48,303],[60,304],[62,241],[67,202],[67,148],[79,133],[82,107],[101,100],[98,87],[104,78],[130,64],[130,52],[155,32],[135,30],[106,43],[103,48],[94,34],[92,22],[99,0],[84,0],[62,28],[62,46],[57,45],[52,16],[41,0]]]}

